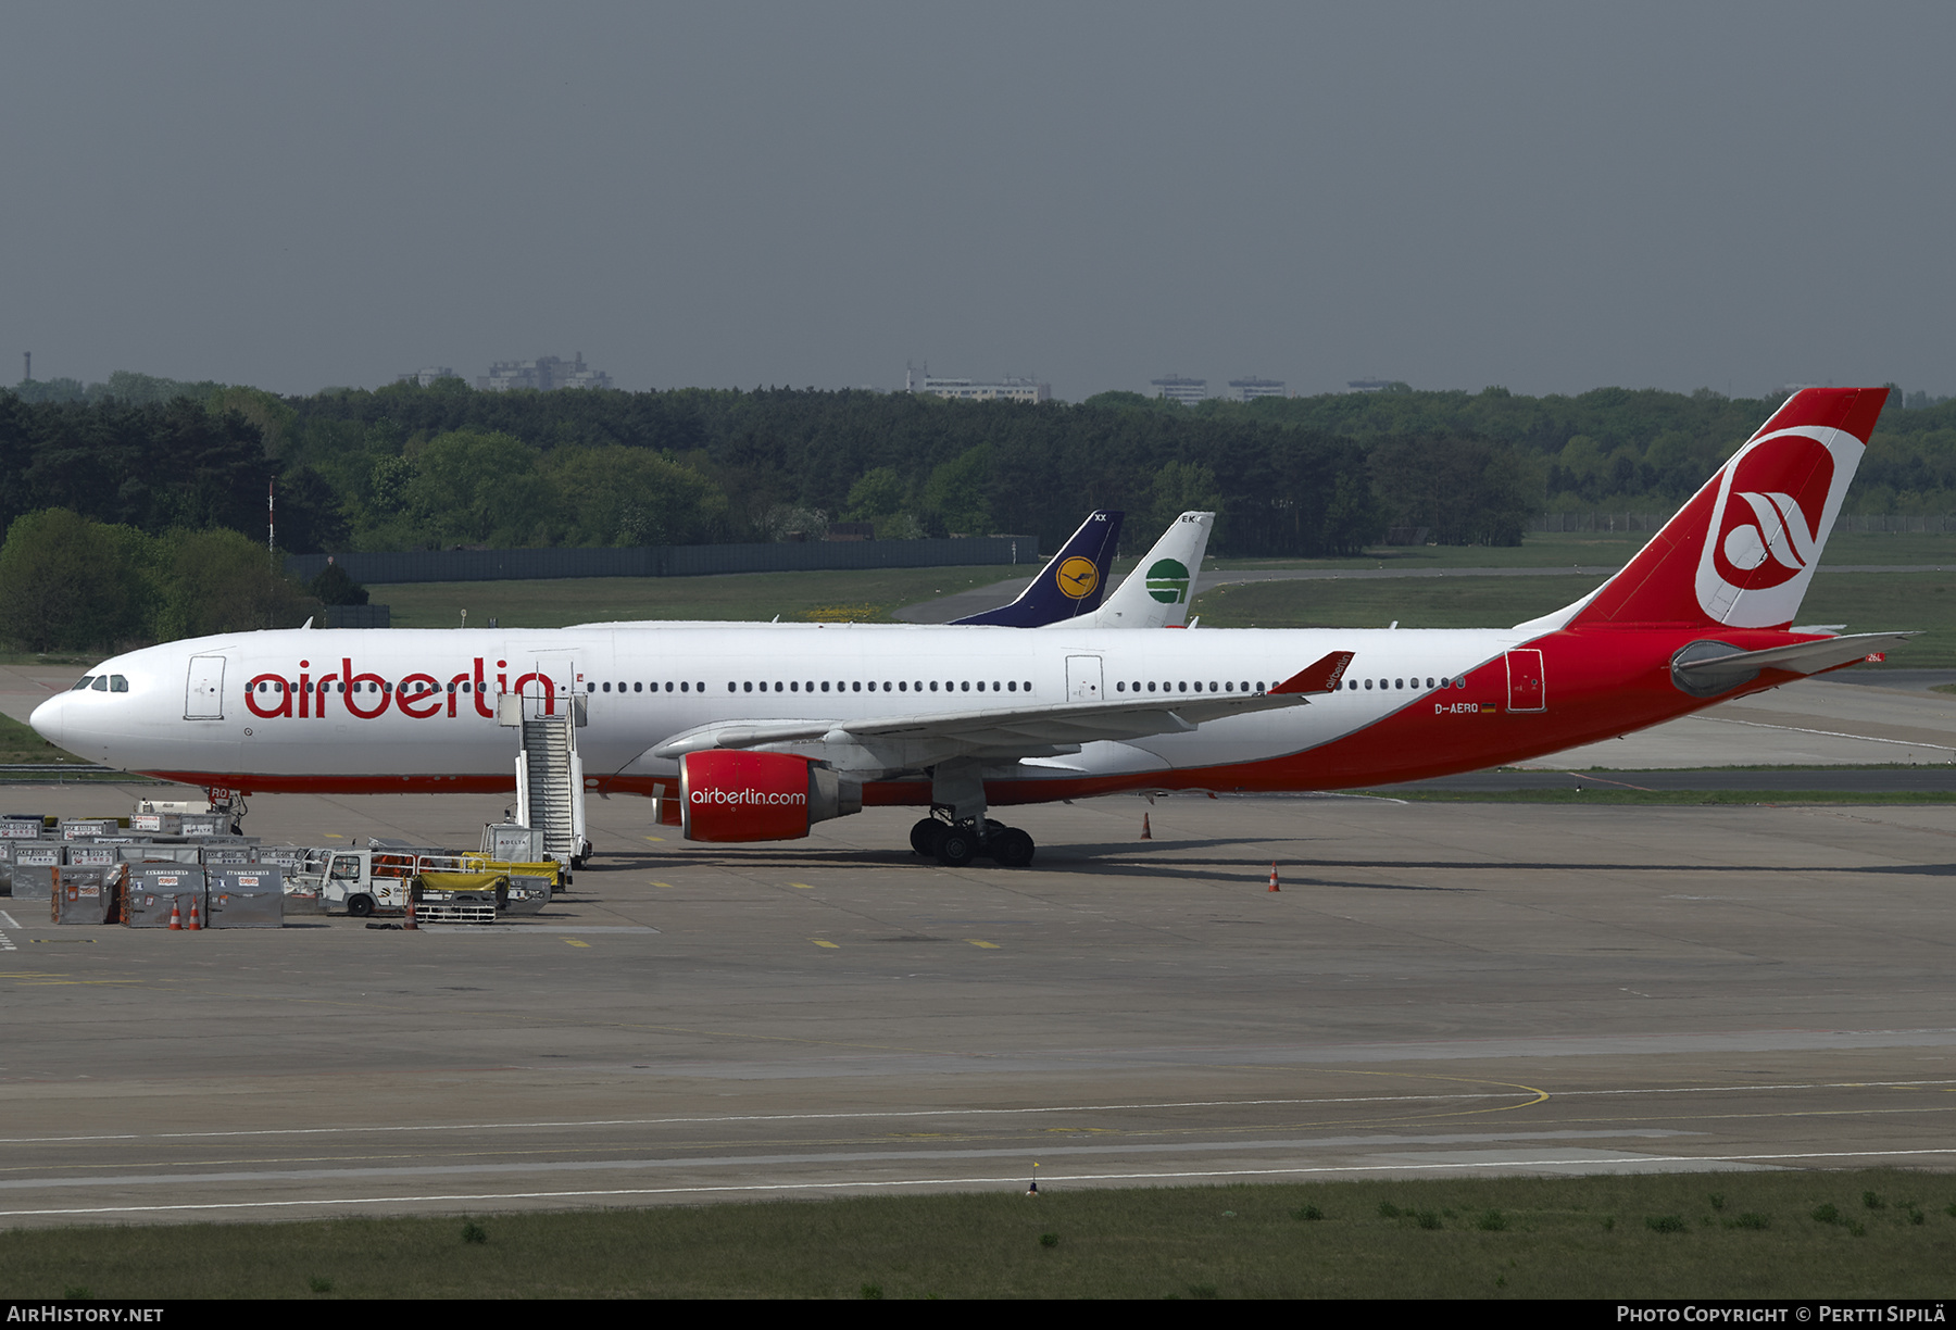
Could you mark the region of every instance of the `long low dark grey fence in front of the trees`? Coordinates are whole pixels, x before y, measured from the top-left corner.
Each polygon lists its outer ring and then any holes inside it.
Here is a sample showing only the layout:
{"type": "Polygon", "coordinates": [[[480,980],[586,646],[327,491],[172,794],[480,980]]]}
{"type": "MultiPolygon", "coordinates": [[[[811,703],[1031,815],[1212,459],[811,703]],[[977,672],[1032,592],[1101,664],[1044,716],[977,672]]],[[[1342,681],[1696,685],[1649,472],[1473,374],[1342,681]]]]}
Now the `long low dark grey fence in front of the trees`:
{"type": "Polygon", "coordinates": [[[336,561],[364,587],[428,581],[516,581],[538,577],[706,577],[712,573],[798,573],[868,567],[960,567],[1039,563],[1037,536],[947,540],[810,540],[751,546],[636,546],[628,550],[405,550],[293,554],[286,571],[311,581],[336,561]]]}

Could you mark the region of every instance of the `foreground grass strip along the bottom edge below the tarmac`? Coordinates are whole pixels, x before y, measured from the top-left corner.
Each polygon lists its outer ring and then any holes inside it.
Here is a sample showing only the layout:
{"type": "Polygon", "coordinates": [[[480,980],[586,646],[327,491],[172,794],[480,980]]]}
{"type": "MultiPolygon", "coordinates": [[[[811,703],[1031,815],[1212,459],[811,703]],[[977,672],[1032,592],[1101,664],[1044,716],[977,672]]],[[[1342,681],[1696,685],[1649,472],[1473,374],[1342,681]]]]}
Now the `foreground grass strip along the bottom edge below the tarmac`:
{"type": "Polygon", "coordinates": [[[1453,1177],[0,1234],[14,1299],[1942,1297],[1956,1177],[1453,1177]]]}

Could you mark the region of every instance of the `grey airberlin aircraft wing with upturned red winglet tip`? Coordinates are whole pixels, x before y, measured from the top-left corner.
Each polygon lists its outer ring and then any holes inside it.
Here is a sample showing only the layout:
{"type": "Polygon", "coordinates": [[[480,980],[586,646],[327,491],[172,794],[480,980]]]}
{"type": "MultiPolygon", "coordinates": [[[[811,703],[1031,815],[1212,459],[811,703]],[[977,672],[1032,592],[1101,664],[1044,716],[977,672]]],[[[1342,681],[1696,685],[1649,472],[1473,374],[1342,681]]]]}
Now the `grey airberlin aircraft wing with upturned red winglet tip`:
{"type": "Polygon", "coordinates": [[[1119,702],[988,706],[845,722],[714,724],[673,735],[647,757],[808,743],[863,749],[880,755],[882,765],[902,767],[958,755],[1045,757],[1099,739],[1187,733],[1222,716],[1301,706],[1316,694],[1334,692],[1350,663],[1352,651],[1332,651],[1267,692],[1178,692],[1119,702]]]}

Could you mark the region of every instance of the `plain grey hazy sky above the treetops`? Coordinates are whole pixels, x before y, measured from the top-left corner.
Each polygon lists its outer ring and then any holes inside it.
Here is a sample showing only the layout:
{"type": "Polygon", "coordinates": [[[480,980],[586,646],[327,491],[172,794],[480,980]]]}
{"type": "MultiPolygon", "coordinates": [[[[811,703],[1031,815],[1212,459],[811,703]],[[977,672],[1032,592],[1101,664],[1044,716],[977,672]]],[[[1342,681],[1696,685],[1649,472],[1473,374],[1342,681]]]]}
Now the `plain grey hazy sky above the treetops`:
{"type": "Polygon", "coordinates": [[[0,23],[0,381],[1956,393],[1950,4],[0,23]]]}

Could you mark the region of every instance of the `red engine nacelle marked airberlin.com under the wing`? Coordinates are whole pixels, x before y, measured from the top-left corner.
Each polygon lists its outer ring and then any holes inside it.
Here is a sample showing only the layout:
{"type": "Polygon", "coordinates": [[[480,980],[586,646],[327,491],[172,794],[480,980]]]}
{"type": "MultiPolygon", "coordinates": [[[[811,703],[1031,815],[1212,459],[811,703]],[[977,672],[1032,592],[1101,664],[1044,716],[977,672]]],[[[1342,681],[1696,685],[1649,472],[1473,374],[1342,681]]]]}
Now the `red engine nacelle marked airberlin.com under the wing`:
{"type": "Polygon", "coordinates": [[[863,786],[794,753],[710,749],[679,759],[679,802],[689,841],[796,841],[863,812],[863,786]]]}

